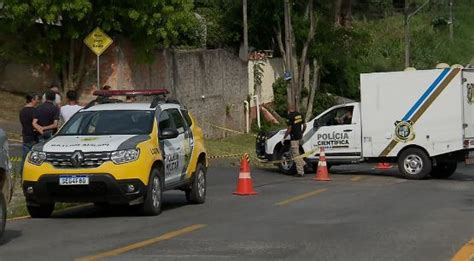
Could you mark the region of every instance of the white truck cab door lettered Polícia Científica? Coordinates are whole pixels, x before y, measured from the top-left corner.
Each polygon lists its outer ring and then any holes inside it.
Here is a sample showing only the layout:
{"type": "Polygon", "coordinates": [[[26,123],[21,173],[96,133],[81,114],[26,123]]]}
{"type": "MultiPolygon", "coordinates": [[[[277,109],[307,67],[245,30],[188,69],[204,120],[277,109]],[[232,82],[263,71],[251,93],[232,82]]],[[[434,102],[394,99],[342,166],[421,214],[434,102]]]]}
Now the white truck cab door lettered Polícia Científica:
{"type": "MultiPolygon", "coordinates": [[[[337,107],[313,121],[303,145],[305,151],[324,147],[331,161],[352,162],[361,157],[359,110],[354,106],[337,107]]],[[[305,137],[303,138],[305,139],[305,137]]],[[[315,156],[319,155],[319,151],[315,156]]]]}

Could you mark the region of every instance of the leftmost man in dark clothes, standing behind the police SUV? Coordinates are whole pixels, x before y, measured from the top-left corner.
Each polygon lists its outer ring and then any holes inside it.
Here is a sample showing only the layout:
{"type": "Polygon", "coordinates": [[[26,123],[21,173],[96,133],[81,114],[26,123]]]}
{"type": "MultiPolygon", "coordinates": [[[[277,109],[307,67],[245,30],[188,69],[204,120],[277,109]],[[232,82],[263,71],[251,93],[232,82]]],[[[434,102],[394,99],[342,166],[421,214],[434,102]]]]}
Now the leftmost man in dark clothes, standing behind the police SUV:
{"type": "Polygon", "coordinates": [[[33,118],[36,115],[36,106],[39,104],[40,98],[36,94],[27,94],[25,98],[26,104],[20,111],[21,136],[23,138],[23,161],[20,165],[20,173],[23,172],[23,162],[25,161],[26,155],[33,145],[38,142],[38,135],[35,133],[35,128],[33,127],[33,118]]]}

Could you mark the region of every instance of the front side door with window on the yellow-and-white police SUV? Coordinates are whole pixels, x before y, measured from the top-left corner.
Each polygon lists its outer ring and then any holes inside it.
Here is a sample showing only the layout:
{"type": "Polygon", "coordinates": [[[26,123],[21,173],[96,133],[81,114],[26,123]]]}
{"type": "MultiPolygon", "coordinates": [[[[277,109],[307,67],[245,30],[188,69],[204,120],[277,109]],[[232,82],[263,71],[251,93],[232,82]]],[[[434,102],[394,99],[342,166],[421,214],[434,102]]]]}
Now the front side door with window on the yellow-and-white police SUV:
{"type": "MultiPolygon", "coordinates": [[[[164,129],[175,129],[176,122],[171,115],[171,109],[164,110],[159,115],[158,131],[164,129]]],[[[179,130],[178,130],[179,133],[179,130]]],[[[160,147],[164,153],[163,159],[165,161],[165,184],[169,185],[179,179],[179,157],[183,144],[183,135],[178,134],[175,138],[160,139],[160,147]]]]}

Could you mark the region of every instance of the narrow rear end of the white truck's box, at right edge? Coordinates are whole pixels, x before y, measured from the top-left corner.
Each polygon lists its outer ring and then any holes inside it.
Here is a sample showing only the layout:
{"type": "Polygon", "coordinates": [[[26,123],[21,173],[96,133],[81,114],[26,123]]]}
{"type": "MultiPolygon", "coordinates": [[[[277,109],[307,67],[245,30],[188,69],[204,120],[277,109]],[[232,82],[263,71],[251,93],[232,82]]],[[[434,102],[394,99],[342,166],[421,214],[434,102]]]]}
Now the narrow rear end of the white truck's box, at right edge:
{"type": "Polygon", "coordinates": [[[474,70],[463,70],[464,143],[474,148],[474,70]]]}

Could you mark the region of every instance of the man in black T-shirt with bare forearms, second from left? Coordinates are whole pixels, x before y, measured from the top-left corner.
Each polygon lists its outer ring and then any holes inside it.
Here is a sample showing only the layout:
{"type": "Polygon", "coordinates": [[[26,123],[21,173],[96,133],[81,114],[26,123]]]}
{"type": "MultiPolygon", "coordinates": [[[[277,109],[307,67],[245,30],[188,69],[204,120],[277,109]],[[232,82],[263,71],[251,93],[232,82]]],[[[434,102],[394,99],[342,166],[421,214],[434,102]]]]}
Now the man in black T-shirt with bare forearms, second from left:
{"type": "Polygon", "coordinates": [[[33,127],[40,133],[40,142],[51,138],[58,128],[59,109],[54,105],[55,96],[54,91],[46,92],[46,101],[38,106],[33,119],[33,127]]]}

